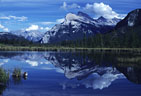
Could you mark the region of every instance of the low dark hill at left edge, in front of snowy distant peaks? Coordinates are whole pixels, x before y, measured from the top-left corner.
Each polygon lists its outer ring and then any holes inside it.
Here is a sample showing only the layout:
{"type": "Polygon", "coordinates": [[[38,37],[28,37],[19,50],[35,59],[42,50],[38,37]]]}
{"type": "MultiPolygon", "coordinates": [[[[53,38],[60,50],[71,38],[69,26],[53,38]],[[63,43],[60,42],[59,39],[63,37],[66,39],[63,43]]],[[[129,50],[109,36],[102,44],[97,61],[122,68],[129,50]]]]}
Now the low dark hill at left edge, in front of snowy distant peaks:
{"type": "Polygon", "coordinates": [[[9,32],[0,32],[0,43],[12,45],[24,45],[31,43],[22,36],[17,36],[9,32]]]}

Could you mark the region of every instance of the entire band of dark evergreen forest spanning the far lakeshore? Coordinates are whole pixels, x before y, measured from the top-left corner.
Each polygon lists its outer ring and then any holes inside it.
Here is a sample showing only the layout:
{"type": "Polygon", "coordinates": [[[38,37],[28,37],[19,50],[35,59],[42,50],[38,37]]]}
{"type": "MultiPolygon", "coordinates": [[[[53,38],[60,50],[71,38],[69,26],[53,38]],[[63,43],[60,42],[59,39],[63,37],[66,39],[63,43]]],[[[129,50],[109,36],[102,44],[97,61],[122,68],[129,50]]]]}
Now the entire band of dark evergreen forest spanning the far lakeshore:
{"type": "Polygon", "coordinates": [[[114,29],[108,33],[97,33],[91,37],[83,34],[82,40],[63,41],[51,44],[33,43],[24,38],[14,37],[0,39],[1,44],[12,46],[34,47],[71,47],[71,48],[141,48],[141,26],[123,27],[114,29]]]}

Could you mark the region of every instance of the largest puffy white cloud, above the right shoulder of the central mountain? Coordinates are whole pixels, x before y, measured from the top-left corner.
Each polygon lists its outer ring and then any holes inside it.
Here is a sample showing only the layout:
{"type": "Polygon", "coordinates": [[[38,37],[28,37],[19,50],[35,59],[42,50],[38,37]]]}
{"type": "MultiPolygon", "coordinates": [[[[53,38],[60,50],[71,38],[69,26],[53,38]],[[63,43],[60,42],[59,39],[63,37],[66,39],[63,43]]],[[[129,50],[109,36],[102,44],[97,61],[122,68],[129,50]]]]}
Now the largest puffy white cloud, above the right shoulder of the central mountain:
{"type": "Polygon", "coordinates": [[[94,4],[86,4],[85,11],[93,12],[97,17],[103,16],[105,18],[121,18],[121,14],[116,13],[113,9],[109,6],[101,3],[94,3],[94,4]]]}

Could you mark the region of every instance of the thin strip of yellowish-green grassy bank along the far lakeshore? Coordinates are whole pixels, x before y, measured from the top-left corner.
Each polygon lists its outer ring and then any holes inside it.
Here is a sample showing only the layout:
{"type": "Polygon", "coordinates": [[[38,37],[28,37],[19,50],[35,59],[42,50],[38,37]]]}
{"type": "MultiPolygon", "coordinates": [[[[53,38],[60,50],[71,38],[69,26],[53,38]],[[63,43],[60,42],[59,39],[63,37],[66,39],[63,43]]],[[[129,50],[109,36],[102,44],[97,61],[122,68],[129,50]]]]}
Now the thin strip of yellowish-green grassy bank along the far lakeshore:
{"type": "Polygon", "coordinates": [[[0,45],[0,51],[114,51],[140,52],[141,48],[79,48],[79,47],[45,47],[45,46],[8,46],[0,45]]]}

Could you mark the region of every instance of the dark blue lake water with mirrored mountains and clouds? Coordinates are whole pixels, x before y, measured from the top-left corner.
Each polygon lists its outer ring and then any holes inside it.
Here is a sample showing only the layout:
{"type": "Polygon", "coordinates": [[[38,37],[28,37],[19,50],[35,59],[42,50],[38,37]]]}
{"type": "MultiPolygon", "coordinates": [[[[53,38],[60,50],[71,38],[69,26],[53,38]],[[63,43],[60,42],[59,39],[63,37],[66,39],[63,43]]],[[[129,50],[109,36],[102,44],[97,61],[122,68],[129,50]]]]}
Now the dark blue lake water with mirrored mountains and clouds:
{"type": "Polygon", "coordinates": [[[139,53],[0,52],[0,66],[29,74],[2,96],[141,96],[139,53]]]}

